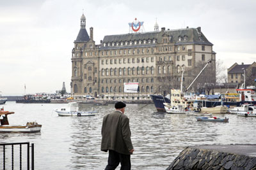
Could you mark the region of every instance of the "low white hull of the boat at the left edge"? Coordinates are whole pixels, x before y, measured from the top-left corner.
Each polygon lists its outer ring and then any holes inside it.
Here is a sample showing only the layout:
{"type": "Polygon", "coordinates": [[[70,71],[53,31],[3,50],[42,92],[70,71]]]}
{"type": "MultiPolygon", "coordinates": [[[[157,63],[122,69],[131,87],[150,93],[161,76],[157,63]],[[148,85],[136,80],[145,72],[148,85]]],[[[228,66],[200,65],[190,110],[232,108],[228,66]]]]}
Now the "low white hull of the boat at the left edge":
{"type": "Polygon", "coordinates": [[[0,125],[0,132],[40,132],[42,125],[0,125]]]}

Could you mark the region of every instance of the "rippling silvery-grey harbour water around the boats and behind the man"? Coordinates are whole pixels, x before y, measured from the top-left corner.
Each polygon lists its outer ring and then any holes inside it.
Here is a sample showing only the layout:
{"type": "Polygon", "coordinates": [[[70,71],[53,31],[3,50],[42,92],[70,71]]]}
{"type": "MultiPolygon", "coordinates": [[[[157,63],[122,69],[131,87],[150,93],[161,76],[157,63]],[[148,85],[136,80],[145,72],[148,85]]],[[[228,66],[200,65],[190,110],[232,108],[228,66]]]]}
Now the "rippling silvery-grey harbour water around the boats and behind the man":
{"type": "MultiPolygon", "coordinates": [[[[100,151],[100,129],[113,104],[83,104],[82,110],[99,111],[95,117],[58,117],[52,111],[65,105],[4,104],[4,110],[15,111],[8,117],[10,124],[36,120],[42,129],[36,134],[2,133],[0,143],[35,143],[35,169],[104,169],[108,153],[100,151]]],[[[227,114],[217,116],[230,118],[229,123],[196,122],[195,117],[186,115],[155,113],[153,104],[143,106],[127,104],[125,110],[135,149],[132,169],[166,169],[186,146],[256,143],[256,118],[227,114]]]]}

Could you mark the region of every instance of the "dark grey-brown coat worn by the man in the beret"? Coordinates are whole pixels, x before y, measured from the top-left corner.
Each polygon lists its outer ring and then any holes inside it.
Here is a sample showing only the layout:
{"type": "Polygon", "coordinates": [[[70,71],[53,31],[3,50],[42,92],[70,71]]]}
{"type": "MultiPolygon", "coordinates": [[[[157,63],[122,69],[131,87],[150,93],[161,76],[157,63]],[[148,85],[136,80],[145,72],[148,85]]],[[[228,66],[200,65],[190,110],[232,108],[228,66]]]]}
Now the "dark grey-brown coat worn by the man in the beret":
{"type": "Polygon", "coordinates": [[[102,122],[102,141],[101,149],[107,152],[115,152],[125,155],[131,155],[132,150],[131,131],[129,127],[129,118],[120,111],[114,111],[106,115],[102,122]]]}

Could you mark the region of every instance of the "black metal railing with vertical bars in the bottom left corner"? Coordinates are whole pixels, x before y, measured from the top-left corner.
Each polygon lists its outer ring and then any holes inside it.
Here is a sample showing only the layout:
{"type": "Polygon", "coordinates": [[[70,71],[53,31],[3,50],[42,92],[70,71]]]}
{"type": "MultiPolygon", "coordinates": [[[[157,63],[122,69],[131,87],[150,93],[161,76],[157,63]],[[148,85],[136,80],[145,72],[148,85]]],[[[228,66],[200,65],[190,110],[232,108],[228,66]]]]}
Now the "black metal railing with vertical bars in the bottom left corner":
{"type": "MultiPolygon", "coordinates": [[[[0,165],[3,164],[3,170],[5,169],[17,169],[17,166],[15,166],[14,162],[19,164],[19,169],[22,169],[22,160],[24,160],[24,158],[22,159],[22,146],[27,146],[25,148],[26,150],[26,167],[28,170],[30,169],[30,159],[31,159],[31,169],[34,169],[34,143],[31,143],[31,146],[29,145],[29,142],[24,142],[24,143],[0,143],[0,165]],[[3,146],[3,147],[2,147],[3,146]],[[8,147],[10,146],[10,147],[8,147]],[[17,146],[17,147],[15,147],[17,146]],[[31,147],[31,156],[30,156],[30,147],[31,147]],[[19,154],[15,154],[14,153],[14,148],[16,150],[18,150],[19,154]],[[11,150],[10,150],[11,149],[11,150]],[[10,150],[10,151],[9,151],[10,150]],[[3,151],[3,157],[1,156],[1,152],[3,151]],[[6,160],[9,160],[8,158],[8,152],[11,153],[11,157],[12,159],[10,160],[10,164],[6,164],[6,160]],[[17,159],[19,158],[19,160],[16,160],[15,157],[17,157],[17,159]],[[7,168],[8,166],[8,168],[7,168]]],[[[2,169],[2,167],[0,167],[0,169],[2,169]]]]}

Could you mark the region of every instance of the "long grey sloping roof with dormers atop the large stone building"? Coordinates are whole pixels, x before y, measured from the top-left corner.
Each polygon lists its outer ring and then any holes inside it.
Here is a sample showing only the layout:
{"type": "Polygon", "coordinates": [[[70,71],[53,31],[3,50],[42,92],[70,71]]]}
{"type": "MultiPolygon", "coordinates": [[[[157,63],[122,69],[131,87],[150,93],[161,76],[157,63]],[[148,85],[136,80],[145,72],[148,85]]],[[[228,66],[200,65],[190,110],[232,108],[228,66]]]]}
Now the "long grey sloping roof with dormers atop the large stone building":
{"type": "MultiPolygon", "coordinates": [[[[157,43],[161,43],[163,36],[168,36],[171,43],[177,45],[181,44],[201,44],[201,45],[212,45],[211,42],[205,38],[204,34],[200,29],[196,28],[187,28],[187,29],[176,29],[176,30],[167,30],[167,31],[154,31],[154,32],[142,32],[142,33],[132,33],[132,34],[118,34],[118,35],[109,35],[104,36],[103,43],[113,43],[121,41],[139,41],[147,39],[156,39],[157,43]],[[179,41],[181,37],[181,41],[179,41]],[[186,39],[185,39],[186,37],[186,39]]],[[[108,48],[108,46],[105,46],[108,48]]]]}

